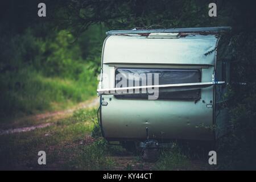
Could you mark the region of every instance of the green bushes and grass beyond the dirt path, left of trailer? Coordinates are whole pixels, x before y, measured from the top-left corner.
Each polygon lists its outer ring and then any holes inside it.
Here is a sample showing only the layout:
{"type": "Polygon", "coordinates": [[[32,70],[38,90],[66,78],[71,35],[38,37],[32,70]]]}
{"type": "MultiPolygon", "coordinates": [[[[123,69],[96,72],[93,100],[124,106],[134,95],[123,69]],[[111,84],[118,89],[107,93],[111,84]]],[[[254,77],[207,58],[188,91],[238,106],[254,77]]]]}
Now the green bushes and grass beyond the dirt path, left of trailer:
{"type": "Polygon", "coordinates": [[[101,51],[93,50],[101,49],[102,38],[95,35],[97,44],[91,45],[86,33],[76,43],[66,30],[48,33],[39,36],[27,28],[0,38],[0,122],[63,110],[96,96],[101,51]]]}

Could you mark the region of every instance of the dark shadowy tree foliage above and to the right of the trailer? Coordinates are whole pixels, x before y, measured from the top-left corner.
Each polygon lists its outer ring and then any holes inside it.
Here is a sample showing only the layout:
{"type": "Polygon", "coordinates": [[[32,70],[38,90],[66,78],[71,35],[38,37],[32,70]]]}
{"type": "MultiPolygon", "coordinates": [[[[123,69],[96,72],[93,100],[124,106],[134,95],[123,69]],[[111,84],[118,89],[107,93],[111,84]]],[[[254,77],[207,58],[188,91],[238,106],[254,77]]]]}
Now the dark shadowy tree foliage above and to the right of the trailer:
{"type": "MultiPolygon", "coordinates": [[[[108,29],[232,26],[232,32],[227,39],[232,44],[233,50],[232,85],[229,93],[232,100],[228,105],[232,115],[230,119],[231,133],[221,140],[219,150],[222,154],[223,163],[225,163],[223,165],[225,169],[256,168],[256,11],[254,1],[46,0],[44,1],[47,5],[46,18],[37,16],[38,3],[39,1],[33,0],[1,1],[1,74],[6,71],[10,74],[16,74],[21,67],[20,65],[32,64],[31,69],[36,71],[42,66],[46,76],[69,75],[77,78],[76,76],[82,72],[81,67],[74,65],[74,68],[69,70],[70,72],[65,73],[67,71],[65,68],[73,64],[67,59],[63,62],[57,61],[51,52],[51,47],[46,46],[48,49],[44,50],[43,53],[41,52],[42,57],[46,59],[52,56],[50,61],[44,64],[35,61],[35,55],[40,54],[40,48],[36,48],[38,47],[36,44],[38,39],[36,41],[33,39],[35,37],[40,38],[43,43],[47,43],[46,39],[48,41],[55,39],[56,34],[51,32],[56,30],[71,32],[73,36],[70,42],[74,42],[88,30],[88,27],[94,24],[100,24],[108,29]],[[208,16],[210,2],[217,4],[217,17],[210,18],[208,16]],[[31,33],[27,33],[28,27],[31,28],[31,33]],[[25,34],[28,35],[24,38],[22,35],[25,34]],[[8,43],[13,36],[15,36],[16,42],[22,42],[21,45],[25,47],[24,50],[19,50],[21,52],[19,55],[16,55],[16,49],[12,49],[15,46],[11,47],[12,44],[8,43]],[[17,62],[15,57],[10,55],[20,56],[18,58],[22,61],[17,62]],[[34,62],[31,63],[31,61],[34,62]],[[48,69],[49,67],[54,69],[48,69]]],[[[16,43],[15,41],[14,43],[16,43]]],[[[82,46],[87,47],[86,44],[80,44],[80,47],[82,46]]],[[[100,47],[101,45],[98,44],[97,46],[100,47]]],[[[64,52],[60,54],[65,55],[65,50],[73,48],[67,45],[63,48],[64,52]]],[[[87,55],[84,55],[84,52],[81,53],[82,59],[90,55],[89,52],[92,52],[91,49],[86,49],[86,51],[88,51],[87,55]]],[[[98,49],[94,51],[97,54],[99,52],[98,49]]],[[[79,62],[81,57],[76,56],[76,54],[72,55],[71,52],[71,55],[65,57],[76,59],[79,62]]],[[[42,57],[40,59],[43,59],[42,57]]],[[[89,57],[91,60],[89,65],[93,65],[90,68],[97,72],[100,62],[97,62],[92,54],[89,57]]],[[[8,84],[2,86],[6,87],[8,84]]],[[[24,85],[20,82],[14,82],[13,85],[9,86],[12,88],[1,89],[1,92],[7,92],[8,89],[15,90],[24,85]]],[[[15,100],[15,98],[13,99],[15,100]]]]}

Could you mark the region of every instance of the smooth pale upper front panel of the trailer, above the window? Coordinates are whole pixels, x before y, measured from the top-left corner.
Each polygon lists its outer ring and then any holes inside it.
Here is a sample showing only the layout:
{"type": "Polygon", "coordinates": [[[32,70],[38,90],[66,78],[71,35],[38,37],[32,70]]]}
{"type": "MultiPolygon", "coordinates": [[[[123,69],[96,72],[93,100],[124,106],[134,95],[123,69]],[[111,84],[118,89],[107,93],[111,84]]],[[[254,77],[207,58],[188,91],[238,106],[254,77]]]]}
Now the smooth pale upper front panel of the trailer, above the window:
{"type": "Polygon", "coordinates": [[[105,42],[103,64],[214,65],[216,43],[216,35],[179,39],[113,35],[105,42]]]}

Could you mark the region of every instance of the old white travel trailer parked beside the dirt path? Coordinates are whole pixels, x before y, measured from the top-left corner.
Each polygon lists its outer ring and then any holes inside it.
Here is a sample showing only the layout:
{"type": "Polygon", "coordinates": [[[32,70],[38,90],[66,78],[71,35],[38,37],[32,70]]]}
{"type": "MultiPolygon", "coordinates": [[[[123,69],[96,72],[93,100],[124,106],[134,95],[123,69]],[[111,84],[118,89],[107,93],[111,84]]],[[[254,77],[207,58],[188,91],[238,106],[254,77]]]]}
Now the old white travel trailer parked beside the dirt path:
{"type": "Polygon", "coordinates": [[[104,137],[164,143],[174,139],[213,141],[222,135],[228,117],[222,104],[230,64],[218,60],[217,52],[221,35],[230,30],[106,32],[97,90],[104,137]],[[148,82],[152,75],[158,79],[148,82]],[[156,94],[150,93],[154,89],[156,94]]]}

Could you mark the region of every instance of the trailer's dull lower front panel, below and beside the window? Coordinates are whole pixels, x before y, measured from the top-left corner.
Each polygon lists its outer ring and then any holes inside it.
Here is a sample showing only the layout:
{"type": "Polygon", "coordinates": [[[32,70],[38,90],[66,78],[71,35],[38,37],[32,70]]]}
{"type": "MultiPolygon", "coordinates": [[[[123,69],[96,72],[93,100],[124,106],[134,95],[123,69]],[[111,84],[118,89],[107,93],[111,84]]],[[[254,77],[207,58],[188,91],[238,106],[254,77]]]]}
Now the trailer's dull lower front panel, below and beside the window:
{"type": "MultiPolygon", "coordinates": [[[[110,85],[103,85],[103,88],[114,87],[115,67],[105,64],[103,69],[106,75],[113,78],[110,85]]],[[[213,69],[202,68],[202,82],[211,81],[213,69]]],[[[161,139],[214,138],[213,131],[209,129],[213,123],[213,108],[207,108],[207,104],[213,101],[213,86],[201,89],[201,100],[196,104],[195,101],[126,100],[113,95],[102,98],[108,102],[107,106],[102,106],[101,112],[102,129],[109,140],[144,140],[146,127],[150,138],[159,142],[161,139]]]]}

